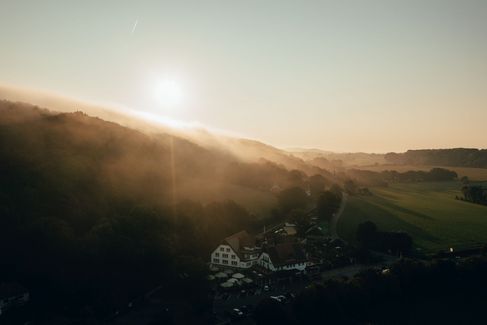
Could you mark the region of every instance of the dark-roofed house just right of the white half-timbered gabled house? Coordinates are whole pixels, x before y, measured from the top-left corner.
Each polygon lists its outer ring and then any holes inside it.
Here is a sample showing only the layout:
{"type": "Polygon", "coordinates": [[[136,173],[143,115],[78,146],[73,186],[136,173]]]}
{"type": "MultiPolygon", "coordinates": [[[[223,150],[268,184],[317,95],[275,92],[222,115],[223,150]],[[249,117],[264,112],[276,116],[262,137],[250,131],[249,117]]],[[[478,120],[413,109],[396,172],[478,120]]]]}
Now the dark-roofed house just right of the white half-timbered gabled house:
{"type": "Polygon", "coordinates": [[[280,243],[266,247],[259,256],[258,264],[271,271],[306,269],[307,258],[298,243],[280,243]]]}

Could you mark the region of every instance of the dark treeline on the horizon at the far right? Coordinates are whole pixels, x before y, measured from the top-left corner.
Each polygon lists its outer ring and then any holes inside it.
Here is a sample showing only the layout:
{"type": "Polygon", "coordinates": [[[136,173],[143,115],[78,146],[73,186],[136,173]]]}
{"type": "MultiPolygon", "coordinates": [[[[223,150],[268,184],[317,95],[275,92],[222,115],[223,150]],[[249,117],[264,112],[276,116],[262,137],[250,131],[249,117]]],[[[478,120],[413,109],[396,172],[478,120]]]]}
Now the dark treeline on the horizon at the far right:
{"type": "Polygon", "coordinates": [[[439,165],[487,168],[487,149],[428,149],[390,152],[386,161],[400,165],[439,165]]]}

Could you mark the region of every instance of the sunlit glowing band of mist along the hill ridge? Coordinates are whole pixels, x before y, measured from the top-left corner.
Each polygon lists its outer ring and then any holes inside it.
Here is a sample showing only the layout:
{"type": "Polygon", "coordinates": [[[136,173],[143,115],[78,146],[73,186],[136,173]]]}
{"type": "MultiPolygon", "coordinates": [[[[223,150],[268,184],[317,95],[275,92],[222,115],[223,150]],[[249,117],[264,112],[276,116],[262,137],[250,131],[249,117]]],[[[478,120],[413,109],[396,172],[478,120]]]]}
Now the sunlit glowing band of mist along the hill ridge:
{"type": "Polygon", "coordinates": [[[63,113],[81,111],[90,116],[115,122],[120,126],[129,127],[149,135],[170,134],[213,153],[233,156],[238,161],[257,163],[266,160],[283,165],[290,170],[300,169],[307,174],[325,172],[285,150],[256,140],[230,136],[220,131],[208,130],[196,125],[187,125],[182,128],[173,127],[169,122],[157,121],[153,119],[155,116],[145,116],[137,110],[91,104],[52,93],[7,86],[0,86],[0,99],[15,103],[28,103],[63,113]]]}

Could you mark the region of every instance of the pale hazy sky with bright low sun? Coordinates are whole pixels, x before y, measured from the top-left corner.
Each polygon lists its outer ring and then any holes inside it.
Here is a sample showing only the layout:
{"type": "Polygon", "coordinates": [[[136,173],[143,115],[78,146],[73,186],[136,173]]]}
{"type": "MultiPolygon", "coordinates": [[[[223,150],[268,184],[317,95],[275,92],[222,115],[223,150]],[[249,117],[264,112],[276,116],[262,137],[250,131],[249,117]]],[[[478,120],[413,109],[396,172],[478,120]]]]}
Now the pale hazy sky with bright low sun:
{"type": "Polygon", "coordinates": [[[278,147],[487,148],[487,1],[0,0],[0,49],[1,84],[278,147]]]}

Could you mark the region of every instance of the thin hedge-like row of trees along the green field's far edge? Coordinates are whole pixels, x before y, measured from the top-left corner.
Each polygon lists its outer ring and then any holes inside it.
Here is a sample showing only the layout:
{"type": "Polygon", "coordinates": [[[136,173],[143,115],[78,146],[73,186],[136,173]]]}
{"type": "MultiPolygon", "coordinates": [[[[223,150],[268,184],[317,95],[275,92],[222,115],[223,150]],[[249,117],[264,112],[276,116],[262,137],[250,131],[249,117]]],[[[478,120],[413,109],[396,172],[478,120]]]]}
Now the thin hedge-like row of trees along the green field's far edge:
{"type": "Polygon", "coordinates": [[[376,186],[385,186],[388,183],[443,182],[458,178],[456,172],[444,168],[432,168],[430,171],[410,170],[402,173],[395,170],[375,172],[351,169],[348,174],[361,184],[376,186]]]}

